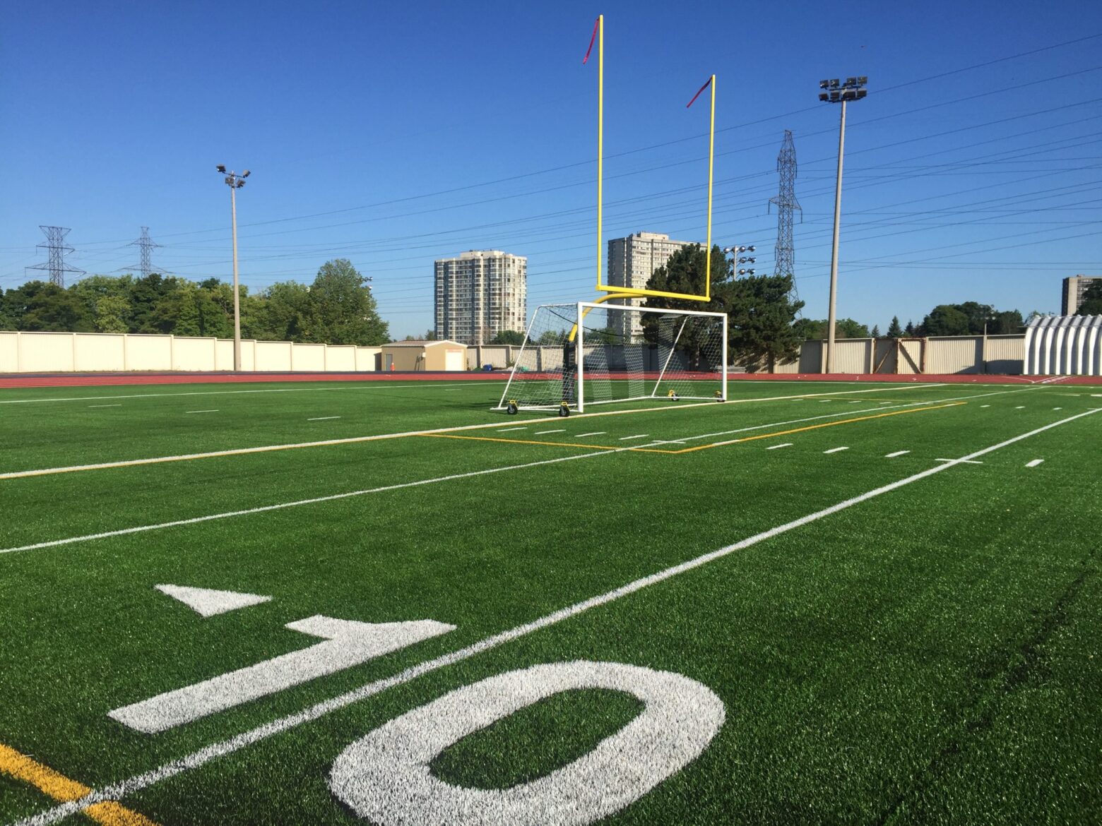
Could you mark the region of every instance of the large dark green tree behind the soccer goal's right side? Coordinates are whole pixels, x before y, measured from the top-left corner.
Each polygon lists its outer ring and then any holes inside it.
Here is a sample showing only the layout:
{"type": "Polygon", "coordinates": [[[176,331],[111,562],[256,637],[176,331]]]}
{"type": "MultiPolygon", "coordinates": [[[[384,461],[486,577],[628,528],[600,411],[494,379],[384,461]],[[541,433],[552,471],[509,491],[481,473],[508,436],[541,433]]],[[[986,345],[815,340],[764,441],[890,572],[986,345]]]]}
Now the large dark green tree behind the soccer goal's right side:
{"type": "MultiPolygon", "coordinates": [[[[700,244],[682,247],[655,270],[647,289],[701,295],[707,256],[700,244]]],[[[669,309],[707,309],[727,314],[728,346],[735,359],[750,369],[773,368],[778,360],[796,358],[800,339],[792,329],[803,302],[793,301],[791,275],[758,275],[735,279],[731,262],[712,247],[712,300],[649,297],[644,306],[669,309]]],[[[644,319],[644,335],[656,335],[644,319]]],[[[679,349],[700,350],[704,341],[681,340],[679,349]]]]}

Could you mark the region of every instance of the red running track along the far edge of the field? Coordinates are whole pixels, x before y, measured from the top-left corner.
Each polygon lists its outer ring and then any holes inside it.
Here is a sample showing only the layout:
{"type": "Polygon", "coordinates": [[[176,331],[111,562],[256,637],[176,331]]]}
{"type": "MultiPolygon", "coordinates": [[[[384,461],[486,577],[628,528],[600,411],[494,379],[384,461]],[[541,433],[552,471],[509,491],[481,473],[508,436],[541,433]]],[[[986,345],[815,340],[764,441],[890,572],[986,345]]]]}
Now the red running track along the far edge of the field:
{"type": "MultiPolygon", "coordinates": [[[[507,370],[494,372],[361,372],[361,373],[7,373],[0,388],[73,388],[108,384],[199,384],[258,381],[485,381],[505,380],[507,370]]],[[[529,376],[529,378],[536,378],[529,376]]],[[[732,381],[867,381],[947,382],[975,384],[1102,384],[1100,376],[979,376],[973,373],[732,373],[732,381]]]]}

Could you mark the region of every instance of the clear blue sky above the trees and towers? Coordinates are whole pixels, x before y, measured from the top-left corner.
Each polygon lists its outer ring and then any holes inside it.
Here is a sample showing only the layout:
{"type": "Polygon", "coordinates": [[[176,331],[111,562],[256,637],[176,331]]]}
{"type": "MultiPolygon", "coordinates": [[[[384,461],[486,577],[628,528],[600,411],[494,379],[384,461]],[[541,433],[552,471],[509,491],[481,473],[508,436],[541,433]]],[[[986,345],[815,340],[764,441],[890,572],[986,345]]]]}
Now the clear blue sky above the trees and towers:
{"type": "Polygon", "coordinates": [[[253,173],[250,290],[349,258],[401,337],[432,324],[434,258],[498,248],[528,257],[529,312],[588,298],[598,12],[606,238],[703,240],[707,109],[684,105],[714,72],[714,239],[773,271],[791,129],[797,285],[824,317],[839,112],[817,86],[865,74],[841,316],[1058,312],[1063,276],[1102,273],[1100,3],[42,0],[9,4],[0,34],[0,286],[44,260],[40,224],[71,227],[89,273],[132,271],[148,226],[154,265],[228,280],[226,163],[253,173]]]}

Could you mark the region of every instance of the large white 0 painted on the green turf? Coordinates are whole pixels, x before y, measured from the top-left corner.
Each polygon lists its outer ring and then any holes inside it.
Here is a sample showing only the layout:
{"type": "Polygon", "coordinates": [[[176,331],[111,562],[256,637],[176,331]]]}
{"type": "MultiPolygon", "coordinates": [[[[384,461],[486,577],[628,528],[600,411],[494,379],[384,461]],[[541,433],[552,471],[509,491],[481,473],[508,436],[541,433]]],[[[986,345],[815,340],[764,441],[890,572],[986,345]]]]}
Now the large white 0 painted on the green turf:
{"type": "Polygon", "coordinates": [[[533,665],[488,677],[393,719],[345,749],[329,789],[380,826],[501,823],[582,826],[637,801],[694,760],[724,720],[706,686],[622,663],[533,665]],[[592,751],[547,776],[504,790],[439,780],[429,764],[449,746],[544,697],[608,688],[646,708],[592,751]]]}

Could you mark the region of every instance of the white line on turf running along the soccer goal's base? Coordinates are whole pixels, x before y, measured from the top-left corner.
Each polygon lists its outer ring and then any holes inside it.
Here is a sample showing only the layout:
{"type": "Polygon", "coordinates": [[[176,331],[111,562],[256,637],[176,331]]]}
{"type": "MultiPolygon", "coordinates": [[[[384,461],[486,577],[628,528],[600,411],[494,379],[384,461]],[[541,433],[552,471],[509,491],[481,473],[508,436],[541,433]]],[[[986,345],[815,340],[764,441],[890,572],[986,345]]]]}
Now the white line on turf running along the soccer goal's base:
{"type": "MultiPolygon", "coordinates": [[[[917,390],[919,387],[944,387],[943,384],[925,384],[915,385],[906,388],[875,388],[869,390],[846,390],[841,391],[843,393],[883,393],[892,390],[917,390]]],[[[342,390],[343,388],[335,388],[336,390],[342,390]]],[[[241,391],[248,392],[248,391],[241,391]]],[[[1014,392],[1014,391],[1003,391],[1003,392],[1014,392]]],[[[183,395],[183,393],[181,393],[183,395]]],[[[726,404],[747,404],[750,402],[776,402],[785,401],[788,399],[803,399],[808,398],[808,393],[800,394],[799,396],[791,395],[775,395],[767,399],[736,399],[726,402],[726,404]]],[[[820,395],[819,393],[812,393],[810,395],[820,395]]],[[[839,395],[839,393],[825,393],[825,395],[839,395]]],[[[572,419],[588,419],[594,416],[618,416],[629,413],[648,413],[655,411],[663,410],[688,410],[690,407],[720,407],[721,405],[716,402],[694,402],[692,404],[677,404],[677,405],[662,405],[659,407],[637,407],[635,410],[606,410],[598,413],[576,413],[572,419]]],[[[725,406],[725,405],[724,405],[725,406]]],[[[561,420],[558,415],[544,416],[542,419],[526,419],[528,424],[539,424],[541,422],[545,423],[558,423],[561,424],[561,420]]],[[[503,422],[489,422],[485,424],[465,424],[457,427],[436,427],[430,431],[406,431],[403,433],[379,433],[374,436],[348,436],[346,438],[328,438],[321,442],[296,442],[293,444],[283,445],[263,445],[261,447],[234,447],[226,450],[210,450],[208,453],[191,453],[181,454],[179,456],[151,456],[145,459],[123,459],[119,461],[102,461],[95,465],[68,465],[62,467],[51,467],[51,468],[39,468],[35,470],[12,470],[6,474],[0,474],[0,480],[3,479],[23,479],[30,476],[51,476],[53,474],[73,474],[83,470],[107,470],[109,468],[119,467],[136,467],[138,465],[158,465],[165,461],[190,461],[192,459],[209,459],[222,456],[244,456],[246,454],[252,453],[268,453],[271,450],[294,450],[303,447],[327,447],[332,445],[350,445],[359,442],[377,442],[380,439],[389,438],[404,438],[406,436],[425,436],[434,433],[458,433],[461,431],[476,431],[483,428],[500,427],[503,422]]]]}

